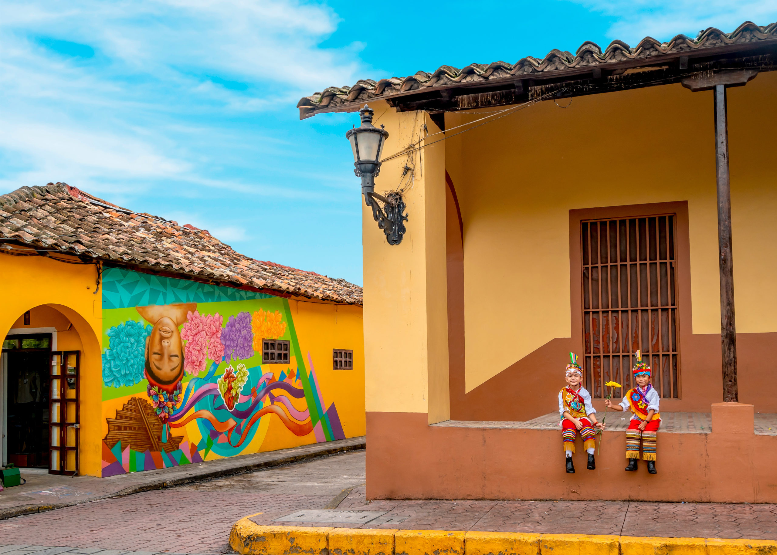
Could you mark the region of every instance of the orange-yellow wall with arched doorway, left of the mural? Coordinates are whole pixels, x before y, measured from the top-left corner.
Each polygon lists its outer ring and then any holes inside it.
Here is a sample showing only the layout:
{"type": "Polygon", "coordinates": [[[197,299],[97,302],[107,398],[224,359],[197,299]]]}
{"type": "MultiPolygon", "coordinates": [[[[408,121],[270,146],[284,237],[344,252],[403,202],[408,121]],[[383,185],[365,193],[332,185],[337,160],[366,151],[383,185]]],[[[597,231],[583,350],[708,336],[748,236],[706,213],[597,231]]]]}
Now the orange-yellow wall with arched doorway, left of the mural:
{"type": "Polygon", "coordinates": [[[82,474],[99,476],[102,295],[93,295],[96,267],[6,254],[0,254],[0,264],[4,289],[0,336],[26,327],[22,315],[30,310],[27,327],[55,327],[57,349],[82,351],[78,468],[82,474]]]}

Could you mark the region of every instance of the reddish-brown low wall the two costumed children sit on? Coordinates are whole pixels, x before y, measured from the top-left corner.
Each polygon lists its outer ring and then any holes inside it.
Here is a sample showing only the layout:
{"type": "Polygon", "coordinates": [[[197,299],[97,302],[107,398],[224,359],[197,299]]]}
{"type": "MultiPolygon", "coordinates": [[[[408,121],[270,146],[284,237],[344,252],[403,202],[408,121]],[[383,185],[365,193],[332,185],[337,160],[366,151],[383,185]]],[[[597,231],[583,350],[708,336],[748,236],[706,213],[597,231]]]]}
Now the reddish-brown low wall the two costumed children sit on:
{"type": "Polygon", "coordinates": [[[777,436],[753,407],[713,404],[710,434],[658,433],[658,474],[624,471],[625,433],[607,431],[597,469],[580,439],[566,474],[561,431],[447,428],[424,413],[368,412],[368,499],[566,499],[777,503],[777,436]]]}

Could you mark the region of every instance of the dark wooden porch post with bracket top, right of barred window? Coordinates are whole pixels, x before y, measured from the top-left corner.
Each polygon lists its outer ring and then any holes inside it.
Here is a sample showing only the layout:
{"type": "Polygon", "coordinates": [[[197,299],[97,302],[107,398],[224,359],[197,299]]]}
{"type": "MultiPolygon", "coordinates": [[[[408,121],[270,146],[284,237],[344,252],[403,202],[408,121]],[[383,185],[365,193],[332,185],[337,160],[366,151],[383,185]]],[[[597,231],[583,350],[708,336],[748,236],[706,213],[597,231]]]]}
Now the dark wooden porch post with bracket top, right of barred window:
{"type": "Polygon", "coordinates": [[[693,92],[713,90],[715,107],[715,170],[718,195],[718,253],[720,254],[720,351],[723,359],[723,401],[738,403],[737,327],[733,311],[733,257],[731,254],[731,188],[728,161],[726,87],[744,86],[758,70],[699,72],[682,80],[693,92]]]}

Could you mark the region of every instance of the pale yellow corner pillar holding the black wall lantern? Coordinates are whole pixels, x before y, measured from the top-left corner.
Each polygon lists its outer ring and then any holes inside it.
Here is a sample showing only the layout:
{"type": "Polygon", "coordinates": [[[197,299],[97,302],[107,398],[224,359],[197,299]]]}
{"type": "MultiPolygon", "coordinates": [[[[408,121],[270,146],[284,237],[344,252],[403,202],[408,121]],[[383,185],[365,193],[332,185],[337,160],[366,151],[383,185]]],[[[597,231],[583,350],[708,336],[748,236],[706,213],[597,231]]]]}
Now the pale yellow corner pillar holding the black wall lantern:
{"type": "MultiPolygon", "coordinates": [[[[423,138],[424,124],[439,131],[425,113],[371,107],[389,131],[384,156],[423,138]]],[[[450,414],[444,157],[443,141],[382,166],[375,185],[382,194],[400,187],[406,163],[413,167],[413,179],[402,182],[409,221],[399,245],[389,245],[362,204],[367,410],[423,412],[430,422],[450,414]]]]}

